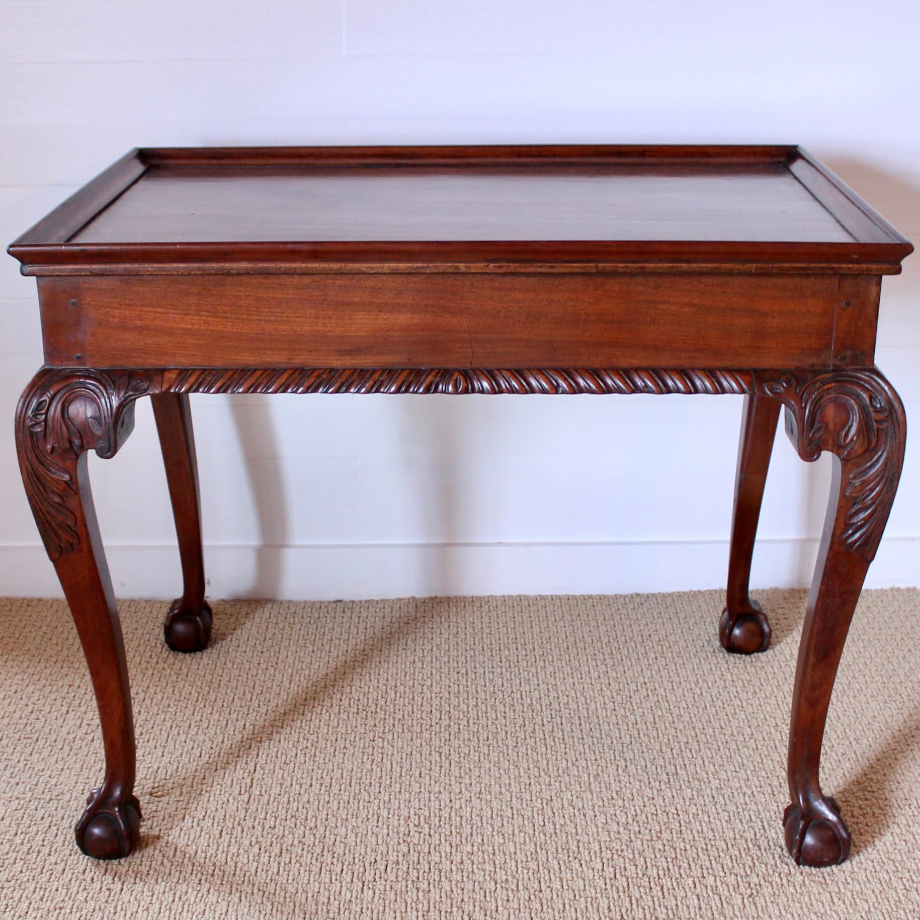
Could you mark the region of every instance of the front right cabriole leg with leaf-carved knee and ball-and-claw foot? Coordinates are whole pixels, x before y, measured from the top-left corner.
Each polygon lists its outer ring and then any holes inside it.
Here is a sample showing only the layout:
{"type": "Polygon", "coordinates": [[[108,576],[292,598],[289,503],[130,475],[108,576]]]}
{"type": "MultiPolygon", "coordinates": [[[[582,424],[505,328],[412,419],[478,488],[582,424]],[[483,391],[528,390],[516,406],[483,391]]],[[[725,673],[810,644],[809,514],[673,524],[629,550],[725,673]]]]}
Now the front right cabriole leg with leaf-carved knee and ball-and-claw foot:
{"type": "Polygon", "coordinates": [[[791,804],[783,822],[802,866],[833,866],[850,852],[837,802],[822,793],[821,748],[834,677],[869,563],[879,548],[904,457],[901,399],[876,369],[783,374],[758,390],[787,408],[787,431],[804,460],[834,454],[821,548],[799,645],[789,729],[791,804]]]}

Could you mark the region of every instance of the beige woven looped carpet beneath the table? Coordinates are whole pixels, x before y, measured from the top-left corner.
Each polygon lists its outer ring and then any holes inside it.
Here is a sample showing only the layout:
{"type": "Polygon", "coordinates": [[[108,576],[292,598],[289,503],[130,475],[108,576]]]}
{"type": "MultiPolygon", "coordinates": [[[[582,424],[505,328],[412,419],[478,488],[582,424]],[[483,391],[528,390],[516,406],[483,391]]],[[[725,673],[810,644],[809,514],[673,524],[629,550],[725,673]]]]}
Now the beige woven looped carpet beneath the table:
{"type": "Polygon", "coordinates": [[[729,658],[721,592],[218,603],[167,651],[122,604],[140,849],[81,856],[101,778],[66,608],[0,602],[4,918],[920,916],[920,592],[867,592],[824,785],[855,852],[782,843],[804,592],[729,658]]]}

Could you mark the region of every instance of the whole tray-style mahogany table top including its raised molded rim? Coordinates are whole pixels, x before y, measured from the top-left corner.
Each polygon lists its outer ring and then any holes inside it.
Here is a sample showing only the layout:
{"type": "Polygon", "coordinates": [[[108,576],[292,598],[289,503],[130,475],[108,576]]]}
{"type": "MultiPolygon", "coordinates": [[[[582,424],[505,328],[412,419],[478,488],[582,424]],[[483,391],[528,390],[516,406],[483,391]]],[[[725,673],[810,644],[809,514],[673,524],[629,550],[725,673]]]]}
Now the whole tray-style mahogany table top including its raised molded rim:
{"type": "Polygon", "coordinates": [[[890,273],[910,251],[789,146],[139,150],[10,247],[30,274],[323,261],[890,273]]]}

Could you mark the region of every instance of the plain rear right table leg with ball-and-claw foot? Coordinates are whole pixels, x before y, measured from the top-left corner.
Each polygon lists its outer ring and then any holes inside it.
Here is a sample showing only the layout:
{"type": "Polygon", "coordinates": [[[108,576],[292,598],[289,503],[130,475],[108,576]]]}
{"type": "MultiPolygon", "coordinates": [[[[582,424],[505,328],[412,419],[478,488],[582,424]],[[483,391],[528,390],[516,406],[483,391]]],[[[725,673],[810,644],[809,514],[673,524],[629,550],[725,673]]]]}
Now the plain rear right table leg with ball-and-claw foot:
{"type": "Polygon", "coordinates": [[[722,648],[742,655],[765,651],[770,644],[770,624],[760,604],[751,598],[750,581],[754,538],[778,418],[776,399],[757,394],[744,397],[731,516],[729,586],[719,620],[722,648]]]}

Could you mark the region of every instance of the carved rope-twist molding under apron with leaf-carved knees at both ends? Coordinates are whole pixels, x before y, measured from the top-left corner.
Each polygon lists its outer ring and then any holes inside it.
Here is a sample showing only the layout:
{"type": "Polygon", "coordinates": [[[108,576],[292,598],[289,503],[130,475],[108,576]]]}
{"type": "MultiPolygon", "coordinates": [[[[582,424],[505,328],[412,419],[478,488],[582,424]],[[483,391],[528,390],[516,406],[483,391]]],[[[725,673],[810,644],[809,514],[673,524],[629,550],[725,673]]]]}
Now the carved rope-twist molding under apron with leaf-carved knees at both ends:
{"type": "Polygon", "coordinates": [[[844,465],[845,550],[878,549],[903,464],[901,400],[876,370],[223,369],[41,371],[23,394],[17,437],[29,500],[49,555],[79,543],[75,458],[111,456],[131,430],[138,397],[170,393],[746,394],[780,400],[799,454],[844,465]]]}

